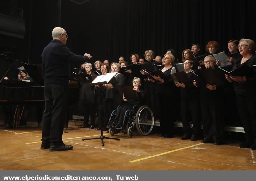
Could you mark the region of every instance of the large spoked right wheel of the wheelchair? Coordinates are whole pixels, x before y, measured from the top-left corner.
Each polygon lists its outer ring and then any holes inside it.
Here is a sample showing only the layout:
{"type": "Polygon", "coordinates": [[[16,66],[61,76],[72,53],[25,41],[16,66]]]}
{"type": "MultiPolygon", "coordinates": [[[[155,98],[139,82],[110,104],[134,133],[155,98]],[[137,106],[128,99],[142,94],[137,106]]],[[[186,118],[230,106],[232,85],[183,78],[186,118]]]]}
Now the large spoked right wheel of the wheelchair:
{"type": "Polygon", "coordinates": [[[154,115],[151,109],[143,105],[136,113],[135,124],[141,135],[148,135],[154,126],[154,115]]]}

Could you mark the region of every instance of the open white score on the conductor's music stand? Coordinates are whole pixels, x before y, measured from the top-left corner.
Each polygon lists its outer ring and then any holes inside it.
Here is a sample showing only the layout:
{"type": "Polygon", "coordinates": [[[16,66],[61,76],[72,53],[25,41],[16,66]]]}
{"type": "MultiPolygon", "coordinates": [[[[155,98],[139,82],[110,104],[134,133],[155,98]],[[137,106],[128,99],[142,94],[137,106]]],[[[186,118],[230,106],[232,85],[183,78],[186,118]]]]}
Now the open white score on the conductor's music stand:
{"type": "Polygon", "coordinates": [[[93,86],[93,85],[101,85],[101,84],[108,84],[108,83],[112,83],[112,84],[115,84],[117,83],[116,81],[116,74],[118,72],[113,72],[113,73],[107,73],[107,74],[104,74],[104,75],[98,75],[91,83],[90,83],[90,86],[93,86]]]}

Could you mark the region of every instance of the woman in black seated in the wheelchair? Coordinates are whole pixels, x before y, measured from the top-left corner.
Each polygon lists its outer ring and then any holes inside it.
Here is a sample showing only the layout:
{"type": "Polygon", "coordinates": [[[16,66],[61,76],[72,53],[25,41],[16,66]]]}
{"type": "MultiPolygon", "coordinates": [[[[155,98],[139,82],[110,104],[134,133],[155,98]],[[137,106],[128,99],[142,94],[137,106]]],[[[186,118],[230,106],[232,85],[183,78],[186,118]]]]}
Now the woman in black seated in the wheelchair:
{"type": "MultiPolygon", "coordinates": [[[[123,94],[124,105],[119,105],[116,113],[116,117],[113,120],[112,128],[121,128],[124,121],[125,112],[131,110],[134,105],[141,105],[143,99],[145,98],[145,91],[140,89],[141,87],[141,79],[138,77],[134,77],[133,79],[133,91],[136,91],[138,94],[138,99],[126,99],[123,94]]],[[[125,120],[127,121],[127,120],[125,120]]]]}

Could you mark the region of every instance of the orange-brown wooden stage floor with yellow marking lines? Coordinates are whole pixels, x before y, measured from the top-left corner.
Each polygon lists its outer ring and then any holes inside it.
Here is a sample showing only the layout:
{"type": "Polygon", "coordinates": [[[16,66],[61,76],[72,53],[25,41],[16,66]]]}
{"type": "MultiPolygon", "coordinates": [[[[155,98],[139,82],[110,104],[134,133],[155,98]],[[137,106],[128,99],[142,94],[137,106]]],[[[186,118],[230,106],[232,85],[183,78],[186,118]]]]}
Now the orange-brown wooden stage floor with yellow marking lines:
{"type": "MultiPolygon", "coordinates": [[[[71,151],[40,150],[41,128],[0,127],[0,170],[256,170],[256,151],[239,148],[237,143],[214,146],[199,141],[159,138],[157,134],[132,138],[115,134],[117,140],[82,141],[99,137],[100,131],[79,129],[70,121],[63,133],[71,151]]],[[[111,137],[105,131],[103,134],[111,137]]]]}

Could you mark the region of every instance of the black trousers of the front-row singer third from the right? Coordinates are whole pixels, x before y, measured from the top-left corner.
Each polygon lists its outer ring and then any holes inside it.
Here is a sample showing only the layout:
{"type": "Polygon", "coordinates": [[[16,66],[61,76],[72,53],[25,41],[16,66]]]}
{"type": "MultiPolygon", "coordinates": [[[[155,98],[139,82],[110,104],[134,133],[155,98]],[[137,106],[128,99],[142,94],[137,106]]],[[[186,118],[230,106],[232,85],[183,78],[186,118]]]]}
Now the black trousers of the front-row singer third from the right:
{"type": "Polygon", "coordinates": [[[200,100],[199,95],[181,95],[181,119],[183,125],[183,133],[191,133],[189,121],[192,121],[193,134],[198,135],[201,128],[200,100]],[[191,117],[190,117],[190,116],[191,117]]]}

